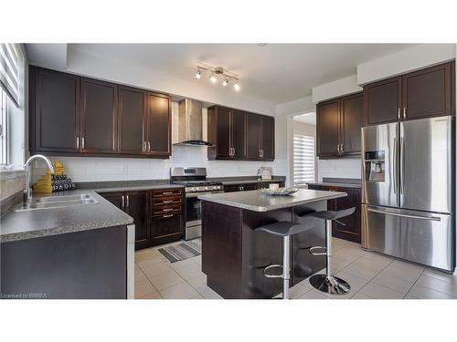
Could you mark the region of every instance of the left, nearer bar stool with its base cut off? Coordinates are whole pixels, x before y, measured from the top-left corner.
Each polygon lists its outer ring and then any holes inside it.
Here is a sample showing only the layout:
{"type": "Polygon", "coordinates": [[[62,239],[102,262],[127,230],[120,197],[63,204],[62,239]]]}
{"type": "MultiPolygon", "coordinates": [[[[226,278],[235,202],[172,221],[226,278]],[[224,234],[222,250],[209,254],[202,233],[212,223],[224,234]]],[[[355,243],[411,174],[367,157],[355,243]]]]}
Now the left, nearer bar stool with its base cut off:
{"type": "Polygon", "coordinates": [[[282,237],[282,264],[271,264],[263,269],[263,275],[268,278],[282,278],[282,299],[289,299],[289,283],[291,280],[291,236],[313,228],[314,225],[307,226],[300,223],[282,221],[262,225],[255,229],[256,232],[271,233],[282,237]],[[282,275],[268,275],[267,271],[274,267],[281,267],[282,275]]]}

